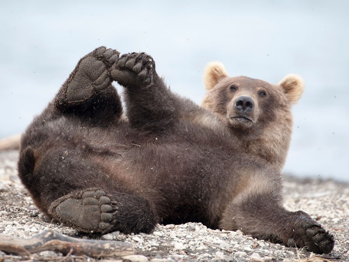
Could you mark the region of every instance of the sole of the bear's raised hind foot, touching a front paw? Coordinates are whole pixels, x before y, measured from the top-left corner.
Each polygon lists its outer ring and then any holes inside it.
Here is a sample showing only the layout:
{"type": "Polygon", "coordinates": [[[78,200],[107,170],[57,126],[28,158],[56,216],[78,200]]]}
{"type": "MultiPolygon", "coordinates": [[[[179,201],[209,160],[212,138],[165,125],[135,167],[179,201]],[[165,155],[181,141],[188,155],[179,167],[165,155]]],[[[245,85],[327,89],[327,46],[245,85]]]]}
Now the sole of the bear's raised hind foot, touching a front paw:
{"type": "Polygon", "coordinates": [[[57,107],[81,104],[92,95],[108,87],[113,79],[111,66],[119,52],[101,46],[84,56],[58,94],[57,107]]]}

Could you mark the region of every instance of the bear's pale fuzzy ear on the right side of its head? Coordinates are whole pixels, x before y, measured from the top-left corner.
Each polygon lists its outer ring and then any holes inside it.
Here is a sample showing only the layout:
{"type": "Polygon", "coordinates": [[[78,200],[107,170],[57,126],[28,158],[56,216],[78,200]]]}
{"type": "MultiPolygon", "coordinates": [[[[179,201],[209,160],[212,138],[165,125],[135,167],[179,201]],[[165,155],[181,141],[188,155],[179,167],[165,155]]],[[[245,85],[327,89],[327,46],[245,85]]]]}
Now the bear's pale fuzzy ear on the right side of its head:
{"type": "Polygon", "coordinates": [[[305,86],[303,79],[296,74],[286,75],[279,85],[284,89],[291,104],[295,104],[300,99],[305,86]]]}

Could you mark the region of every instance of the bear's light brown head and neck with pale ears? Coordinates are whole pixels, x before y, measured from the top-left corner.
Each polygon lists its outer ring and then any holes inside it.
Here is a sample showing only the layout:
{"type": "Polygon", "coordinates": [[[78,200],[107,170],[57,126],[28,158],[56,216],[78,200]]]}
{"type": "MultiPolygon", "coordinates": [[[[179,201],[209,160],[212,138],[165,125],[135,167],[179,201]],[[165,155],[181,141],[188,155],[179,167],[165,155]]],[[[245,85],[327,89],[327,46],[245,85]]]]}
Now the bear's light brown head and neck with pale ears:
{"type": "Polygon", "coordinates": [[[224,65],[210,62],[203,82],[208,90],[201,107],[213,112],[242,142],[282,170],[292,134],[291,106],[304,90],[303,79],[288,74],[278,85],[249,77],[229,77],[224,65]]]}

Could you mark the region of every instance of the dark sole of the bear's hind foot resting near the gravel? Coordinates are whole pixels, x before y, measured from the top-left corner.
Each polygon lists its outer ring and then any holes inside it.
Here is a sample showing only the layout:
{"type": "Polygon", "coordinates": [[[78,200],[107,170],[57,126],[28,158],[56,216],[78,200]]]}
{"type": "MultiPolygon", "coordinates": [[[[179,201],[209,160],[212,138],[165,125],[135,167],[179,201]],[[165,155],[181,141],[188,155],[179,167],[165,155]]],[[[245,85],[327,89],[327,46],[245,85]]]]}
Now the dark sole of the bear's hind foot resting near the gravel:
{"type": "Polygon", "coordinates": [[[84,232],[108,232],[116,223],[118,207],[104,190],[87,189],[60,197],[49,213],[61,223],[84,232]]]}

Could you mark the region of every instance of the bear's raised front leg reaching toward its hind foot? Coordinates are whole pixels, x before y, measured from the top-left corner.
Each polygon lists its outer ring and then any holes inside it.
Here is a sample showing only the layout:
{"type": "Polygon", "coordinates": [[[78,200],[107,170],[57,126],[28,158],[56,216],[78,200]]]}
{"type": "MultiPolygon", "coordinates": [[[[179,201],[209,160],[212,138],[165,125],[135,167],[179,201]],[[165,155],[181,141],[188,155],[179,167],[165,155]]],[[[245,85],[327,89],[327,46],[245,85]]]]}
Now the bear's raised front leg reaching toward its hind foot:
{"type": "Polygon", "coordinates": [[[135,128],[153,128],[177,118],[183,99],[178,99],[155,71],[155,63],[146,53],[122,55],[111,75],[125,87],[129,123],[135,128]]]}

